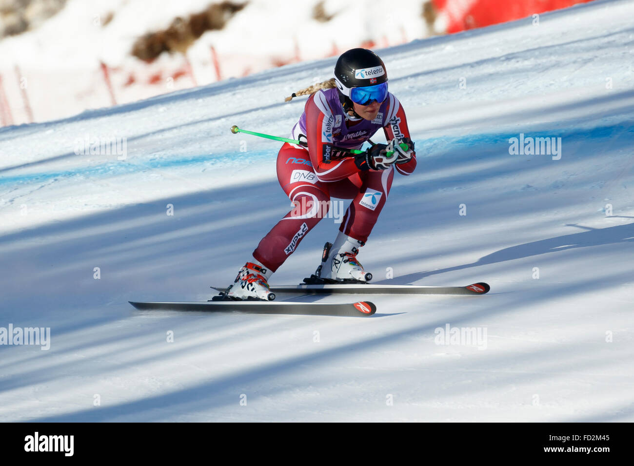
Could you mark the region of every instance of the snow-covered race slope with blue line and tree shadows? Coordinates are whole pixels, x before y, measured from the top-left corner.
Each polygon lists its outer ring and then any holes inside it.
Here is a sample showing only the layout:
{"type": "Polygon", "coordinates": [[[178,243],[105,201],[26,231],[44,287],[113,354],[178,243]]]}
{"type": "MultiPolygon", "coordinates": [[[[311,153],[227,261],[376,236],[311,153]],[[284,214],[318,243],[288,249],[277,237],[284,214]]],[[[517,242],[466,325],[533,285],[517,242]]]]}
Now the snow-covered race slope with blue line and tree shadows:
{"type": "Polygon", "coordinates": [[[304,101],[283,97],[334,59],[0,129],[0,327],[51,328],[48,351],[0,346],[0,420],[634,420],[633,16],[597,1],[378,51],[419,163],[359,259],[380,283],[492,290],[378,296],[367,319],[127,304],[233,280],[289,205],[278,144],[229,127],[286,136],[304,101]],[[510,155],[521,133],[562,138],[560,160],[510,155]],[[86,134],[126,159],[75,155],[86,134]],[[436,344],[446,325],[486,340],[436,344]]]}

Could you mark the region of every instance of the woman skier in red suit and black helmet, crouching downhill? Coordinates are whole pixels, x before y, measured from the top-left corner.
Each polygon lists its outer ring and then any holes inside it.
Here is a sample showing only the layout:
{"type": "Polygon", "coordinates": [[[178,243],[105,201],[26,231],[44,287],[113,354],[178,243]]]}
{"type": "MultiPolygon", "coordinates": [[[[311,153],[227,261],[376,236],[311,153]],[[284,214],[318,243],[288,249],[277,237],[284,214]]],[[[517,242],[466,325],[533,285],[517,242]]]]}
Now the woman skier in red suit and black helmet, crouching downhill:
{"type": "Polygon", "coordinates": [[[368,49],[351,49],[335,65],[335,77],[292,94],[310,94],[295,124],[294,139],[307,147],[284,143],[277,158],[281,188],[295,205],[262,238],[253,259],[238,271],[226,290],[231,299],[275,299],[268,279],[309,231],[325,216],[330,197],[352,199],[334,243],[326,243],[315,283],[368,281],[356,259],[377,222],[394,178],[394,168],[409,175],[416,168],[405,112],[387,91],[387,72],[368,49]],[[389,143],[363,143],[383,128],[389,143]]]}

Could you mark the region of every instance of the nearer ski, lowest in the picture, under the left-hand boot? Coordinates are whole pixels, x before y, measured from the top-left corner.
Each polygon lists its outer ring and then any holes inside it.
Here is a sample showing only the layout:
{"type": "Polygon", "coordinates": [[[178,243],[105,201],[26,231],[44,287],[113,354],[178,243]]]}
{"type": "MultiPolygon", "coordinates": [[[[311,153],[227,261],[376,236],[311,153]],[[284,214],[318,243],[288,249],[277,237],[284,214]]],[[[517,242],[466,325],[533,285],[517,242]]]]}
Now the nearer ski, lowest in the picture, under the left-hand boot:
{"type": "Polygon", "coordinates": [[[136,309],[241,312],[249,314],[295,314],[303,316],[368,317],[377,311],[377,306],[369,301],[344,304],[289,301],[128,302],[136,307],[136,309]]]}

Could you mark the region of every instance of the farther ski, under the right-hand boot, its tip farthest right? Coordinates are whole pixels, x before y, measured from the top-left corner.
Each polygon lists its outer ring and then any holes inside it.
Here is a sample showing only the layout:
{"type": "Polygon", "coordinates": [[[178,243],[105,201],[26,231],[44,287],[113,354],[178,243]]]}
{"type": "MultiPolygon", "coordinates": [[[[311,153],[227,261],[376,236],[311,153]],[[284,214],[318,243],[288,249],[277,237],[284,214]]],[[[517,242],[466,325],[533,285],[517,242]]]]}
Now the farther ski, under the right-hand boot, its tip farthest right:
{"type": "MultiPolygon", "coordinates": [[[[219,292],[226,288],[212,287],[219,292]]],[[[472,283],[466,287],[429,287],[422,285],[371,285],[370,283],[325,283],[322,285],[281,285],[270,287],[275,294],[446,294],[446,295],[482,295],[489,292],[487,283],[472,283]]]]}

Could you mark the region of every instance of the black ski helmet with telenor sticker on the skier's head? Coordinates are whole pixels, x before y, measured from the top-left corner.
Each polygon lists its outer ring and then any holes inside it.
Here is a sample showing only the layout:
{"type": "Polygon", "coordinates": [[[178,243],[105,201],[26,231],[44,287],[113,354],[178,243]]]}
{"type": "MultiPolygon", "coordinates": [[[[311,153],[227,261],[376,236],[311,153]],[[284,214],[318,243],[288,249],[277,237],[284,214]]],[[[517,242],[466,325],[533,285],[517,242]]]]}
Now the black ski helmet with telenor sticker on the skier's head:
{"type": "MultiPolygon", "coordinates": [[[[387,82],[385,64],[372,50],[350,49],[339,56],[335,65],[335,85],[346,113],[354,108],[350,100],[352,87],[374,86],[382,82],[387,82]]],[[[356,112],[354,115],[359,117],[356,112]]]]}

